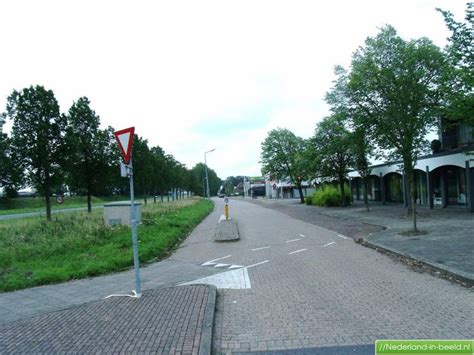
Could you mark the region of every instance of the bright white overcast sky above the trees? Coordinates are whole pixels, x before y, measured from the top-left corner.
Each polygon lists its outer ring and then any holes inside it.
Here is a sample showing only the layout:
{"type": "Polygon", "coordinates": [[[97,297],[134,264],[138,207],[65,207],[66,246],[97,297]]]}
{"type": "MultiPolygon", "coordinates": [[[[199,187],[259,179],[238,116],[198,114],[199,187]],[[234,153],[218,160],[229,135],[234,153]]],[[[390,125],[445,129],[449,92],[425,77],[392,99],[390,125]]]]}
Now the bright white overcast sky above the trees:
{"type": "MultiPolygon", "coordinates": [[[[378,28],[405,39],[449,32],[464,0],[50,1],[0,3],[0,111],[43,85],[61,111],[87,96],[102,126],[136,133],[192,168],[260,175],[267,132],[314,133],[336,64],[378,28]]],[[[7,131],[9,126],[7,125],[7,131]]]]}

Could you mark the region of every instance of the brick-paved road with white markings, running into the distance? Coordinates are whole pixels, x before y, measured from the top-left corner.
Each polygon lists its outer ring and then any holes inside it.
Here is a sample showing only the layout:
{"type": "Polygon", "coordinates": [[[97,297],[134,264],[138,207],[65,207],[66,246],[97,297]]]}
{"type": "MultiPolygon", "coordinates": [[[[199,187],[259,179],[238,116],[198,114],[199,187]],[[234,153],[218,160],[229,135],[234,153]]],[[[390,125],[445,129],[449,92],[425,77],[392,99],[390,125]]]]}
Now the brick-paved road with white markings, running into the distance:
{"type": "Polygon", "coordinates": [[[171,257],[222,270],[196,281],[219,288],[216,353],[345,346],[364,353],[377,339],[472,338],[471,289],[416,273],[317,220],[244,200],[230,202],[240,241],[215,243],[209,234],[223,210],[216,199],[171,257]]]}

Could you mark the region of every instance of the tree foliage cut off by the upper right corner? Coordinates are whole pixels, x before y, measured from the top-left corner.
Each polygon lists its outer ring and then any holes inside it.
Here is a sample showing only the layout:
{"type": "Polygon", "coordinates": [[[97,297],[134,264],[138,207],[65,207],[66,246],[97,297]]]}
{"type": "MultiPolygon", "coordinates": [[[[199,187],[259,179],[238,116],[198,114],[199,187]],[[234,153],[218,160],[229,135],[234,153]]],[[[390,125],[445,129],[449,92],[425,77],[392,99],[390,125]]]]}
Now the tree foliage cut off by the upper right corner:
{"type": "Polygon", "coordinates": [[[449,11],[437,10],[451,31],[446,48],[450,66],[444,82],[444,114],[454,123],[474,126],[474,3],[466,5],[465,23],[455,21],[449,11]]]}

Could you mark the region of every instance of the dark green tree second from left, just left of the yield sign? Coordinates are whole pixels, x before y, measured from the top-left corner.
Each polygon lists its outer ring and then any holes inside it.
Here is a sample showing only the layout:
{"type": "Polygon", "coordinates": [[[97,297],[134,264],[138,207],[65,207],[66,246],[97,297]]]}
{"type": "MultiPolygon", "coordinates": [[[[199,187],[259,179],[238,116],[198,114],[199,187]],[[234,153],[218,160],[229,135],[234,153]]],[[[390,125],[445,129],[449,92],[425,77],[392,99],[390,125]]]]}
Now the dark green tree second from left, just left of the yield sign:
{"type": "Polygon", "coordinates": [[[72,190],[86,194],[90,213],[92,194],[104,185],[104,173],[115,158],[110,132],[99,128],[100,118],[90,108],[87,97],[72,104],[66,120],[66,180],[72,190]]]}

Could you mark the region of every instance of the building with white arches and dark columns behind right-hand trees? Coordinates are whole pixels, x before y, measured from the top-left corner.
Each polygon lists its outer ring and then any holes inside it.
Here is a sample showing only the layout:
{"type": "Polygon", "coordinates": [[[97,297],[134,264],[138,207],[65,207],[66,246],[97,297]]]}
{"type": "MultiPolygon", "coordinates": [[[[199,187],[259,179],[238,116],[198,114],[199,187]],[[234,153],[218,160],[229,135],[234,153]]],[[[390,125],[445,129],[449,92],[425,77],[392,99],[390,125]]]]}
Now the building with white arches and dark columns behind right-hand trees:
{"type": "MultiPolygon", "coordinates": [[[[464,206],[474,211],[474,130],[455,125],[440,134],[437,152],[420,157],[415,166],[416,203],[464,206]]],[[[349,174],[352,198],[363,200],[363,182],[356,171],[349,174]]],[[[375,165],[368,183],[372,201],[408,204],[408,182],[401,162],[375,165]]]]}

